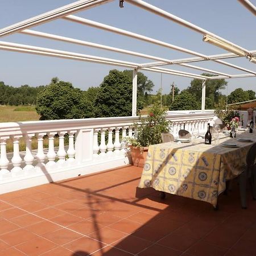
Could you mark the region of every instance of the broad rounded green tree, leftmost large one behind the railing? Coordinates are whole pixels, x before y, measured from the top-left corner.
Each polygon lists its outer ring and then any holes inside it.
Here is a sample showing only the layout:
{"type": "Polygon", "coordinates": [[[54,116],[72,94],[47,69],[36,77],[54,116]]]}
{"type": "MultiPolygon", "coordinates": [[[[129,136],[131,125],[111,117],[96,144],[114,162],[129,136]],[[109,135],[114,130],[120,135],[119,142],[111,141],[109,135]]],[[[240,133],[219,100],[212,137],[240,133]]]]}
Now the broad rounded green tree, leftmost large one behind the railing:
{"type": "Polygon", "coordinates": [[[36,112],[41,120],[90,117],[92,105],[70,82],[51,82],[38,94],[36,112]]]}

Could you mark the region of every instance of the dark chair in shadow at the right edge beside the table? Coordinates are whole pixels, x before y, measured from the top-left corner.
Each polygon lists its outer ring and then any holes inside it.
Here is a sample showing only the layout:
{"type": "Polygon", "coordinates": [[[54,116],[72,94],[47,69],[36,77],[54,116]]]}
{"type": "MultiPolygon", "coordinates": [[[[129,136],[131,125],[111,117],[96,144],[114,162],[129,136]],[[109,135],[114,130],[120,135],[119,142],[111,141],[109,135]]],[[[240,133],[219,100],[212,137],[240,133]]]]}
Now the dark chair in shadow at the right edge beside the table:
{"type": "Polygon", "coordinates": [[[256,143],[251,146],[250,150],[246,155],[246,167],[245,171],[239,176],[239,187],[240,187],[240,199],[242,209],[246,209],[246,183],[247,178],[251,181],[251,190],[253,193],[253,199],[256,200],[256,143]]]}

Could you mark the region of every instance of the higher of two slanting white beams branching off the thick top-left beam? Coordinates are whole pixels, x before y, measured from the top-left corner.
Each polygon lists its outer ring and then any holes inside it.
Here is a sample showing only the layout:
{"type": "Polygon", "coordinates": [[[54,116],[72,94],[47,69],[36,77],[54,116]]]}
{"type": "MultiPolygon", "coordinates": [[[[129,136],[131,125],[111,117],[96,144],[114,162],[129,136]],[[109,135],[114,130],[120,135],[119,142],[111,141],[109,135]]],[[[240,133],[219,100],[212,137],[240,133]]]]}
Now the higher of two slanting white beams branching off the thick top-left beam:
{"type": "MultiPolygon", "coordinates": [[[[73,22],[77,22],[77,23],[84,24],[84,25],[91,26],[91,27],[100,28],[102,30],[111,31],[111,32],[114,32],[114,33],[119,34],[119,35],[129,36],[131,38],[143,40],[145,42],[153,43],[153,44],[156,44],[158,46],[163,46],[163,47],[167,47],[167,48],[171,48],[171,49],[176,49],[177,51],[181,51],[181,52],[189,53],[191,55],[199,56],[199,57],[203,58],[204,60],[209,60],[209,57],[207,55],[202,54],[202,53],[191,51],[191,50],[183,48],[183,47],[174,46],[174,44],[169,44],[169,43],[166,43],[166,42],[162,42],[162,41],[157,40],[157,39],[148,38],[147,36],[136,34],[134,32],[130,32],[130,31],[127,31],[127,30],[122,30],[121,28],[112,27],[112,26],[109,26],[109,25],[106,25],[106,24],[102,24],[100,22],[94,22],[93,20],[84,19],[84,18],[74,16],[74,15],[65,16],[63,19],[71,20],[73,22]]],[[[239,57],[238,55],[235,55],[235,56],[239,57]]],[[[214,61],[216,61],[217,63],[227,65],[227,66],[232,67],[232,68],[243,70],[245,72],[249,72],[249,73],[253,73],[253,74],[255,73],[253,71],[248,71],[248,69],[238,67],[237,65],[227,63],[225,61],[216,60],[216,59],[214,61]]],[[[157,65],[158,64],[161,64],[161,63],[157,63],[157,65]]],[[[162,64],[165,65],[166,63],[162,63],[162,64]]],[[[141,64],[141,67],[143,67],[143,64],[141,64]]],[[[147,67],[148,67],[148,65],[147,65],[147,67]]]]}

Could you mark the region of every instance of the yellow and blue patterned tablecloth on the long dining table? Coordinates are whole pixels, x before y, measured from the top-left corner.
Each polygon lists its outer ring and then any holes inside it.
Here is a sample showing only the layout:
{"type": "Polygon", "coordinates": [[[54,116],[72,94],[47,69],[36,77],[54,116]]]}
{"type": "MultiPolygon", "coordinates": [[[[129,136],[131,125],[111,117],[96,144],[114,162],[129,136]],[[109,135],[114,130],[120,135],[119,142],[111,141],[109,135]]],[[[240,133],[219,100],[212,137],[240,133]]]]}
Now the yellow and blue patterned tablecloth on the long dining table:
{"type": "MultiPolygon", "coordinates": [[[[256,139],[255,134],[243,133],[240,138],[256,139]]],[[[233,139],[222,137],[218,146],[203,141],[162,143],[148,148],[140,188],[207,201],[216,206],[217,197],[226,188],[226,180],[245,170],[246,154],[254,142],[236,141],[238,147],[221,146],[233,139]]]]}

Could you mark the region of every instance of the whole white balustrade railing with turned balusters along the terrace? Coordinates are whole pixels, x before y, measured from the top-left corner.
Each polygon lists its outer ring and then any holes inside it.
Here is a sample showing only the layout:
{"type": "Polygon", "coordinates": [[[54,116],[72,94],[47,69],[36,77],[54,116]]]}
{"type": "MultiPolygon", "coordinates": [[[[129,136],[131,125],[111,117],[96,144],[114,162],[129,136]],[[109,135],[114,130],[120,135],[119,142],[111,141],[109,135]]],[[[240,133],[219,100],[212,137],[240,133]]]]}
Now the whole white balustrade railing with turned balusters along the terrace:
{"type": "MultiPolygon", "coordinates": [[[[166,115],[175,136],[184,127],[205,132],[213,117],[213,113],[166,115]]],[[[0,193],[129,164],[121,142],[133,135],[134,122],[138,117],[0,123],[0,193]],[[26,141],[26,151],[19,150],[21,138],[26,141]],[[10,139],[13,154],[6,152],[10,139]],[[35,150],[31,149],[32,139],[36,140],[35,150]],[[44,139],[48,148],[43,147],[44,139]]]]}

